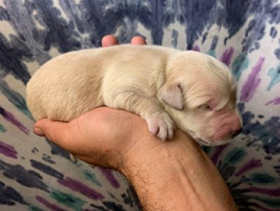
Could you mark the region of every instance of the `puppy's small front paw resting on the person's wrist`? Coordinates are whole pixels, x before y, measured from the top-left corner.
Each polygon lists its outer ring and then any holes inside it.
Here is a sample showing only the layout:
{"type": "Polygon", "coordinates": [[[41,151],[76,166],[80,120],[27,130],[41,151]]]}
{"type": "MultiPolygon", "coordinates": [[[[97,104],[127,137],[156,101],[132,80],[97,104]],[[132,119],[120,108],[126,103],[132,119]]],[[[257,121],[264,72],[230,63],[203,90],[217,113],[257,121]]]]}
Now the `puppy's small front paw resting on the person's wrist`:
{"type": "Polygon", "coordinates": [[[162,141],[172,140],[175,128],[174,121],[166,112],[148,116],[146,122],[152,135],[157,135],[162,141]]]}

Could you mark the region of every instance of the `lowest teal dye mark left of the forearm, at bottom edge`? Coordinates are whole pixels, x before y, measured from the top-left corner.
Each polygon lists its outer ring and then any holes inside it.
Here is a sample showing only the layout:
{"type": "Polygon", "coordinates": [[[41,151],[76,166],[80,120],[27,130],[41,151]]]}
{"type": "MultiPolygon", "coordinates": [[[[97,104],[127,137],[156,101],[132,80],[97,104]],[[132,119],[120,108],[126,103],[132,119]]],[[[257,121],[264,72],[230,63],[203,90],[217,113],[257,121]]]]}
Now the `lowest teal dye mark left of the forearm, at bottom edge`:
{"type": "Polygon", "coordinates": [[[83,205],[85,201],[81,200],[76,196],[72,196],[68,193],[62,193],[61,191],[52,191],[50,197],[54,198],[57,202],[62,203],[66,207],[71,207],[73,210],[80,211],[83,210],[83,205]]]}

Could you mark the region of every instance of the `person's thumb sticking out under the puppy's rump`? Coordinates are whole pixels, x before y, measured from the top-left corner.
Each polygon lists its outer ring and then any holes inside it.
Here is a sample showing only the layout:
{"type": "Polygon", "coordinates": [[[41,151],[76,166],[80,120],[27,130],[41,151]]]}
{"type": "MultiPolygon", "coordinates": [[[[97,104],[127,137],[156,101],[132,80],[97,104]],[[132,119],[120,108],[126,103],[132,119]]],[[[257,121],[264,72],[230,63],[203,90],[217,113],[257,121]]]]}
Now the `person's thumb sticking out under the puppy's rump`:
{"type": "Polygon", "coordinates": [[[67,151],[73,151],[75,146],[72,146],[75,142],[71,135],[69,123],[60,121],[50,121],[48,118],[42,118],[34,125],[33,132],[38,136],[45,136],[59,147],[66,149],[67,151]]]}

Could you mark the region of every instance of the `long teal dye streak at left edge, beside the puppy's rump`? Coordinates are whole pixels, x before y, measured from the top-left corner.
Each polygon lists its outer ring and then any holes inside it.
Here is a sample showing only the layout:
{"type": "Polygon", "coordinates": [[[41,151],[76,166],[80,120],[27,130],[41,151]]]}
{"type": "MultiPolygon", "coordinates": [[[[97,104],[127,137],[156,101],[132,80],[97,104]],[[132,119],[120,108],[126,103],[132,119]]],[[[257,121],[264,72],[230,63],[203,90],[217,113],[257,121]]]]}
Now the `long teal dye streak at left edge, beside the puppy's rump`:
{"type": "Polygon", "coordinates": [[[13,103],[16,109],[20,111],[22,114],[28,116],[31,120],[33,120],[32,115],[30,114],[29,110],[27,109],[27,104],[25,102],[25,98],[20,95],[20,93],[15,92],[12,90],[6,81],[0,79],[0,90],[5,95],[8,100],[13,103]]]}

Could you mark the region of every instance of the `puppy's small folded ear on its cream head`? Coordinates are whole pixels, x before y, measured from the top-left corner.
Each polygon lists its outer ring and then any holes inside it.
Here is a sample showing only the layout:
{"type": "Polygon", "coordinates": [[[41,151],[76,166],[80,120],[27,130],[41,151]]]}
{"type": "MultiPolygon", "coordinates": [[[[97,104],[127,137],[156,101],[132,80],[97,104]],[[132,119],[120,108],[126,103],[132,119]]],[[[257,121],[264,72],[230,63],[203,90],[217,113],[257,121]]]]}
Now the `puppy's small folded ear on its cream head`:
{"type": "Polygon", "coordinates": [[[167,86],[162,92],[162,100],[174,109],[183,110],[183,90],[179,84],[167,86]]]}

